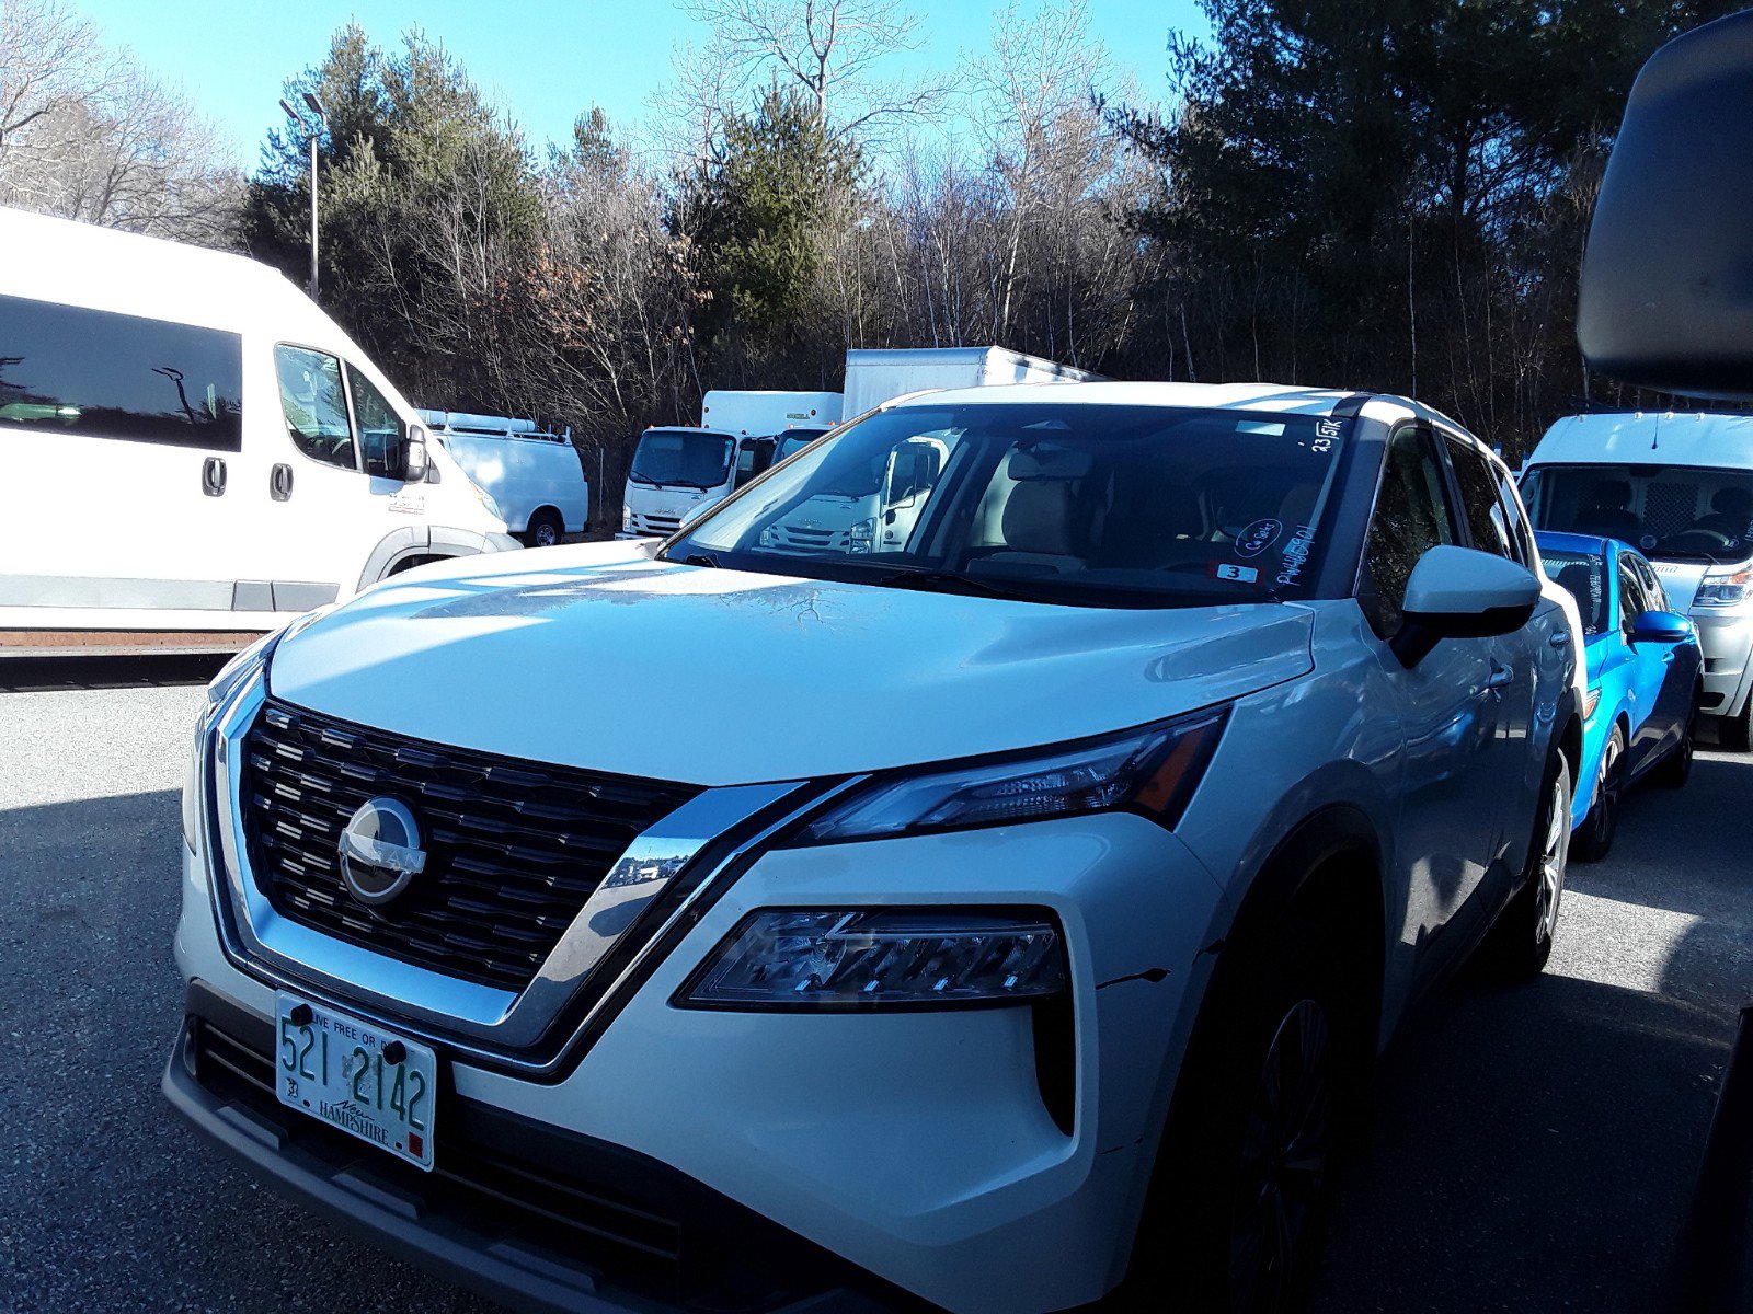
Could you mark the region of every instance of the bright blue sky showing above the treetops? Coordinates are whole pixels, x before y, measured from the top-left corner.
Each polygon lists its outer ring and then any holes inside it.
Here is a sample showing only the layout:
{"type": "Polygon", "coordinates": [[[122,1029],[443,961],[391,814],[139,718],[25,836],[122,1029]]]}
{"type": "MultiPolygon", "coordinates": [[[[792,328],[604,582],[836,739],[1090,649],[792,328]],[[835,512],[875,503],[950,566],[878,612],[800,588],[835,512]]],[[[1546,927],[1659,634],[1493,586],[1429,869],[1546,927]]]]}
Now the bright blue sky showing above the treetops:
{"type": "MultiPolygon", "coordinates": [[[[110,46],[128,46],[149,70],[179,84],[226,133],[237,163],[254,168],[263,133],[280,117],[280,82],[323,58],[330,33],[356,18],[373,40],[421,26],[456,54],[475,84],[529,138],[561,140],[598,103],[622,126],[649,116],[677,42],[699,25],[668,0],[359,0],[359,4],[230,4],[212,0],[74,0],[110,46]]],[[[894,72],[952,70],[962,51],[987,47],[999,5],[950,0],[910,5],[922,16],[920,49],[894,72]]],[[[1204,32],[1194,0],[1090,0],[1090,26],[1117,68],[1146,100],[1162,95],[1169,28],[1204,32]]]]}

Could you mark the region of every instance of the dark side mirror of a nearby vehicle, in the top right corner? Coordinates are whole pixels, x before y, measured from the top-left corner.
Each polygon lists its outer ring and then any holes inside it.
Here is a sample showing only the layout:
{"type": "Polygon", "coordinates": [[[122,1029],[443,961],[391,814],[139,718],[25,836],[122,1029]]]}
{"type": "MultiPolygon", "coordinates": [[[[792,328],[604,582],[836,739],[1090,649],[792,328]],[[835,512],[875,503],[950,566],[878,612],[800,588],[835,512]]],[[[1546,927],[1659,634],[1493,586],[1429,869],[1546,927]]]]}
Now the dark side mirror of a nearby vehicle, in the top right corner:
{"type": "Polygon", "coordinates": [[[1753,396],[1753,11],[1637,74],[1588,230],[1576,340],[1602,375],[1753,396]]]}

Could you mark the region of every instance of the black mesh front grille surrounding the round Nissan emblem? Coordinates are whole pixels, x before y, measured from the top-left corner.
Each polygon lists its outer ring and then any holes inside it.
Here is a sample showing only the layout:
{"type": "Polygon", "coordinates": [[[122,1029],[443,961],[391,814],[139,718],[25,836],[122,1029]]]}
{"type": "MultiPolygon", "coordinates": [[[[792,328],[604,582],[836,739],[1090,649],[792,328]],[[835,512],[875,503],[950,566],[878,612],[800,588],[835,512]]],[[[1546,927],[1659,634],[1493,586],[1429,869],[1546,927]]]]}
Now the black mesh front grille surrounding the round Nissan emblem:
{"type": "Polygon", "coordinates": [[[521,762],[268,703],[244,739],[244,837],[280,916],[445,976],[522,990],[610,865],[691,785],[521,762]],[[366,908],[342,883],[342,827],[405,802],[426,867],[366,908]]]}

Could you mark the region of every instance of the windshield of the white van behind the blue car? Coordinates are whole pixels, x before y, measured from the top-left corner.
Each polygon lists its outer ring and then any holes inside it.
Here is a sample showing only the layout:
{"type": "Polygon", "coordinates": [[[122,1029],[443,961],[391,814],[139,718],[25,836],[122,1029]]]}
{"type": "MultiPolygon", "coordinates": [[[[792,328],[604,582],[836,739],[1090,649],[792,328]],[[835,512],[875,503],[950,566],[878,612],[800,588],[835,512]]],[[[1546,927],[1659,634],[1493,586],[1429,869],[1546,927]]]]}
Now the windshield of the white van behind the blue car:
{"type": "Polygon", "coordinates": [[[1753,471],[1697,466],[1534,466],[1536,529],[1616,538],[1657,557],[1753,557],[1753,471]]]}

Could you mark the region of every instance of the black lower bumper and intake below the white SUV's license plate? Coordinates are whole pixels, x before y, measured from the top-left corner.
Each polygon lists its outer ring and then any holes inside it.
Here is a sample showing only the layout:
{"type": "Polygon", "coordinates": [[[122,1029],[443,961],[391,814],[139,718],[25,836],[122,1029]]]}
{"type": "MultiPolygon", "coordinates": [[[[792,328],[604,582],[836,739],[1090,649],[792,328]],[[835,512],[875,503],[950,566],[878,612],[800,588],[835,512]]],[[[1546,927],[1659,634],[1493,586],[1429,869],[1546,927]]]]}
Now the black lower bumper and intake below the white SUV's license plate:
{"type": "Polygon", "coordinates": [[[419,1172],[280,1106],[272,1053],[266,1020],[191,983],[165,1097],[298,1204],[514,1309],[920,1309],[663,1163],[491,1106],[452,1100],[419,1172]]]}

